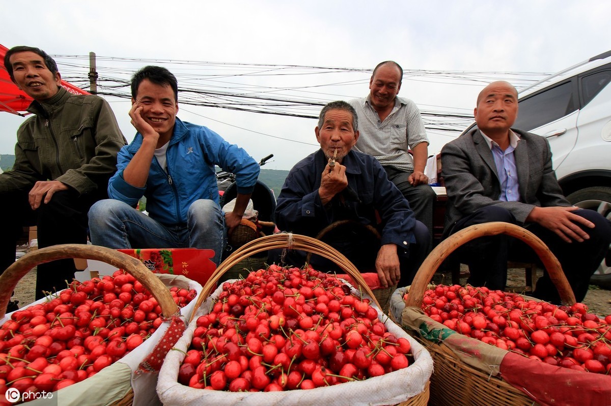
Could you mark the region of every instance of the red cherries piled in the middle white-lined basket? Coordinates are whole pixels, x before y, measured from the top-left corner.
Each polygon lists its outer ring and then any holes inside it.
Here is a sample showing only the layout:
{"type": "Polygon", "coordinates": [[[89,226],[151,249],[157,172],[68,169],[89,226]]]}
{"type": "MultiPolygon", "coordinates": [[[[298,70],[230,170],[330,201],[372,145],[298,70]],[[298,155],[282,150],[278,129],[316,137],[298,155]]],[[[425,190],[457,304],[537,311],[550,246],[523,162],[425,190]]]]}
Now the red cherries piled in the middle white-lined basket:
{"type": "Polygon", "coordinates": [[[406,368],[411,345],[387,332],[368,299],[312,268],[251,272],[225,282],[178,380],[229,391],[312,389],[406,368]]]}

